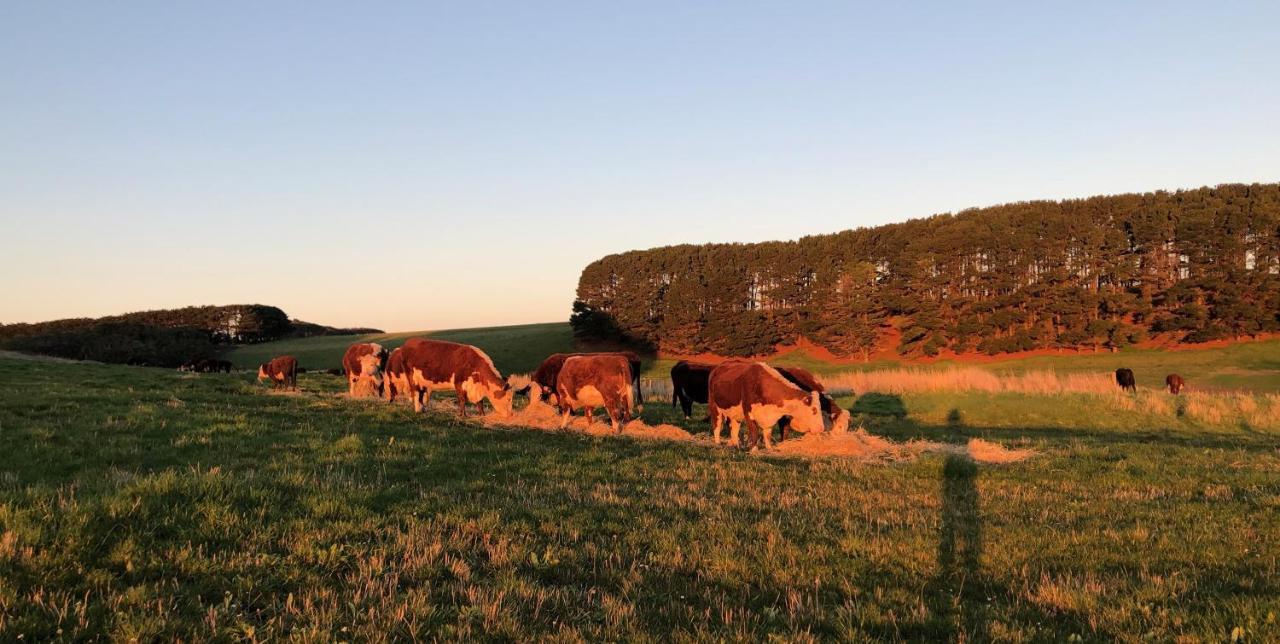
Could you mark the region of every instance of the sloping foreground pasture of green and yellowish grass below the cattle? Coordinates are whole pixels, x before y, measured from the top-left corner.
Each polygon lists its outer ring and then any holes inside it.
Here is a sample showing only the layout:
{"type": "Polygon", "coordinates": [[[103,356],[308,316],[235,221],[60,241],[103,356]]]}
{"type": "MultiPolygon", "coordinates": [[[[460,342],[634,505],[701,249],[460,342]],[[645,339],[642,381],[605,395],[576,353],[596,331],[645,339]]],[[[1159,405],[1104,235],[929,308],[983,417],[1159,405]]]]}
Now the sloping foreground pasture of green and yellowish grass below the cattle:
{"type": "Polygon", "coordinates": [[[0,357],[0,640],[1280,639],[1276,431],[863,392],[1038,455],[785,460],[301,384],[0,357]]]}

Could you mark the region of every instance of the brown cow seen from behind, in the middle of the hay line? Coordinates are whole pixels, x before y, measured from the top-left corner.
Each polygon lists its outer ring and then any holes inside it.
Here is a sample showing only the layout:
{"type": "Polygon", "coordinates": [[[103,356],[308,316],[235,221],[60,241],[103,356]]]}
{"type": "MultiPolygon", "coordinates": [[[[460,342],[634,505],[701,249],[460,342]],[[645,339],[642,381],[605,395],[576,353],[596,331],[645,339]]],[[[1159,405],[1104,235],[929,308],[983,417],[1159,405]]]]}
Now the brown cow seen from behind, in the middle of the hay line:
{"type": "Polygon", "coordinates": [[[556,399],[561,408],[561,429],[568,425],[573,410],[586,411],[586,424],[591,424],[591,410],[604,407],[614,431],[631,420],[635,402],[630,361],[617,353],[570,356],[556,376],[556,399]],[[621,423],[620,423],[621,421],[621,423]]]}

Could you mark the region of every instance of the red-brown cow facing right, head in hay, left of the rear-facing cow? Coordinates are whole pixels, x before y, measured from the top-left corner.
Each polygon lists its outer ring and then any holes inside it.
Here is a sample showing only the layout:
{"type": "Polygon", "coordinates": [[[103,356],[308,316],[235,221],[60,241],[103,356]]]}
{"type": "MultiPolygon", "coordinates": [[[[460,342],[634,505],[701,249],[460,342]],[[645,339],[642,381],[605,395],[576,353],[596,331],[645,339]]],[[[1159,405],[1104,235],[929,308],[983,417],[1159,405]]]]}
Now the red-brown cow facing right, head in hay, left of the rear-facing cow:
{"type": "Polygon", "coordinates": [[[422,338],[410,338],[401,351],[413,411],[422,411],[422,405],[431,399],[433,389],[451,387],[458,397],[462,417],[467,415],[468,402],[484,411],[485,398],[499,415],[511,415],[511,401],[516,396],[484,351],[471,344],[422,338]]]}

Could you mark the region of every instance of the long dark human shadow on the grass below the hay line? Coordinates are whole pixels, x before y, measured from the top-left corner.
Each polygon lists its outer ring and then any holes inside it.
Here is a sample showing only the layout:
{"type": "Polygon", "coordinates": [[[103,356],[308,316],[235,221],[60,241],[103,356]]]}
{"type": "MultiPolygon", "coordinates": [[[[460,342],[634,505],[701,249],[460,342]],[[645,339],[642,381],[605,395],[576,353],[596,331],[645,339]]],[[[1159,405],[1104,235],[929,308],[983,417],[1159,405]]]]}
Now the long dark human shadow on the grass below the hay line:
{"type": "Polygon", "coordinates": [[[950,455],[942,466],[942,521],[938,534],[938,579],[934,612],[955,636],[989,639],[984,618],[986,583],[982,575],[982,508],[978,465],[950,455]]]}

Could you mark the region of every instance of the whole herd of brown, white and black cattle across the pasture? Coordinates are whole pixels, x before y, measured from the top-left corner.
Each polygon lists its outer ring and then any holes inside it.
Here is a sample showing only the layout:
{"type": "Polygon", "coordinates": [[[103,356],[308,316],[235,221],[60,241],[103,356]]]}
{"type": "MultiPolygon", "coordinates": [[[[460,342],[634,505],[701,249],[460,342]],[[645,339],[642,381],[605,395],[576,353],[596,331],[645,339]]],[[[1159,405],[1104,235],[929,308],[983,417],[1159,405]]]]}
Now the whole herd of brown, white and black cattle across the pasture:
{"type": "MultiPolygon", "coordinates": [[[[407,396],[413,411],[436,389],[453,390],[458,412],[466,417],[467,405],[484,412],[485,401],[499,416],[509,416],[517,396],[558,408],[561,426],[567,426],[575,411],[582,411],[588,424],[599,407],[621,431],[636,410],[643,410],[640,357],[628,351],[600,353],[553,353],[530,375],[522,388],[513,388],[484,351],[470,344],[411,338],[388,352],[380,344],[352,344],[342,358],[352,396],[376,396],[387,401],[407,396]]],[[[264,362],[257,371],[273,387],[297,388],[298,361],[280,356],[264,362]]],[[[1116,384],[1137,390],[1129,369],[1116,370],[1116,384]]],[[[687,420],[695,402],[708,406],[712,437],[721,442],[721,428],[730,425],[730,443],[739,444],[740,428],[748,426],[748,447],[771,447],[774,426],[782,438],[788,431],[847,429],[849,412],[836,405],[822,383],[800,367],[771,366],[750,360],[718,364],[680,361],[671,367],[672,406],[680,405],[687,420]]],[[[1180,393],[1185,382],[1170,374],[1165,384],[1180,393]]]]}

